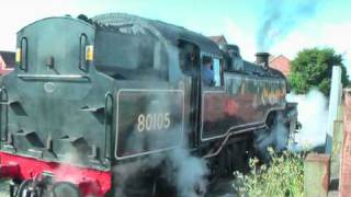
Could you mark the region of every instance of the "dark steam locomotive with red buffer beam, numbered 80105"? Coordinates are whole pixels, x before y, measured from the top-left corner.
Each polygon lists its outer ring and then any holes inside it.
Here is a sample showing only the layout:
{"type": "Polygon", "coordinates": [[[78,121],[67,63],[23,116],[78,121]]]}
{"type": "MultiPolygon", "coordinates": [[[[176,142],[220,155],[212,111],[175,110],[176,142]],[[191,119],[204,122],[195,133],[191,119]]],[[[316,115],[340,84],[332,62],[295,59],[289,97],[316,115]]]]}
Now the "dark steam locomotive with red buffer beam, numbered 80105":
{"type": "Polygon", "coordinates": [[[286,139],[296,126],[286,79],[257,57],[122,13],[29,24],[0,85],[0,177],[10,196],[115,196],[118,166],[179,147],[207,161],[208,177],[230,173],[278,116],[286,139]]]}

